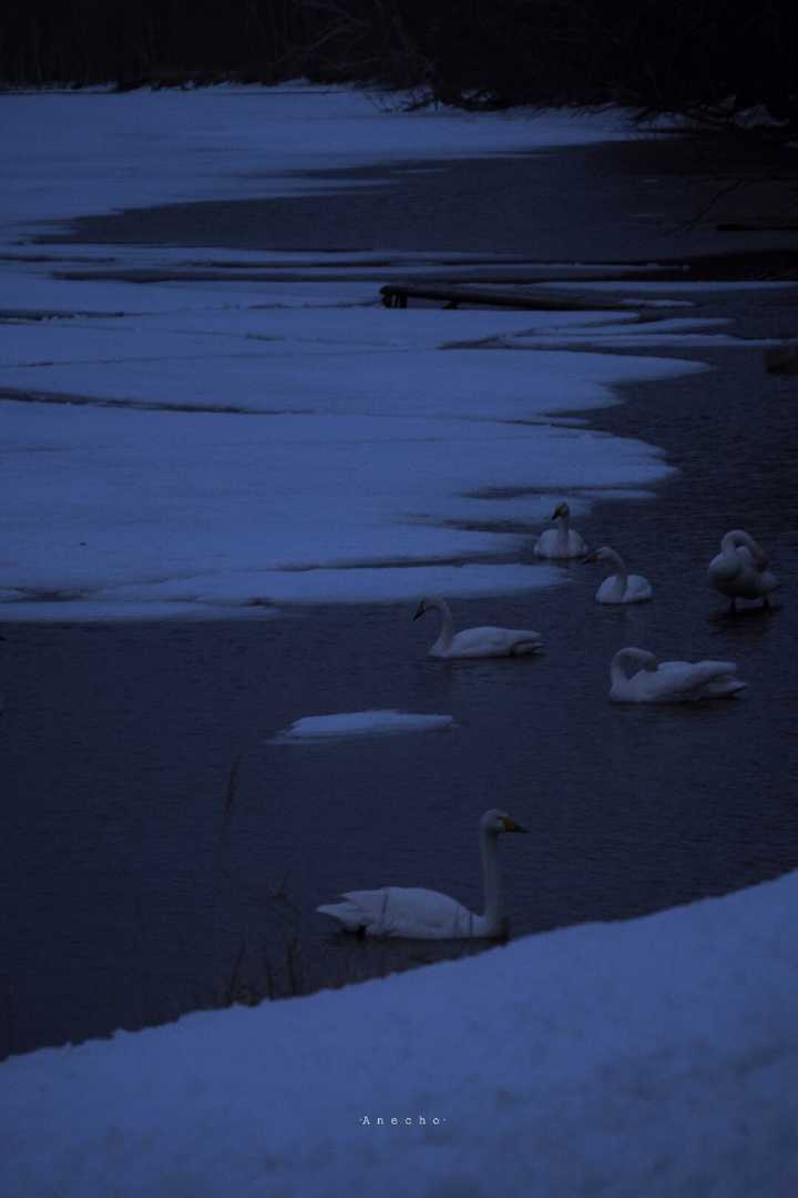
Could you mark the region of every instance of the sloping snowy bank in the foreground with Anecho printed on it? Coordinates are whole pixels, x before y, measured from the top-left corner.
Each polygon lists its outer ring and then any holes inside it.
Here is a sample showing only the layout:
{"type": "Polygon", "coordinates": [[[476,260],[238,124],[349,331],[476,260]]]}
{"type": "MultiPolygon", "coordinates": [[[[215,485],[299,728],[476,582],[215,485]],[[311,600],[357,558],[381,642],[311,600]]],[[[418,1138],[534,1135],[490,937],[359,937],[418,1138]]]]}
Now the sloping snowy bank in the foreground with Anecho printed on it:
{"type": "Polygon", "coordinates": [[[797,916],[793,873],[12,1058],[0,1191],[791,1198],[797,916]]]}

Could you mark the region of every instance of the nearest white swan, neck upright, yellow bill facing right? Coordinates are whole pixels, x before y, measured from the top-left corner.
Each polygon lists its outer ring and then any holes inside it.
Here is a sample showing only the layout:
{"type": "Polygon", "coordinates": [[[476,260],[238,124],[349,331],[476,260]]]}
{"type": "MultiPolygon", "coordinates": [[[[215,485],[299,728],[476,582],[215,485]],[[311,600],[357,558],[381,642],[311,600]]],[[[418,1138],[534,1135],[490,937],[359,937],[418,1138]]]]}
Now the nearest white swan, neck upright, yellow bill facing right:
{"type": "Polygon", "coordinates": [[[486,811],[480,819],[485,914],[475,915],[456,898],[437,890],[384,887],[382,890],[351,890],[342,902],[317,907],[331,915],[343,931],[359,936],[407,936],[424,940],[449,940],[507,934],[501,902],[497,849],[505,831],[526,831],[505,811],[486,811]]]}

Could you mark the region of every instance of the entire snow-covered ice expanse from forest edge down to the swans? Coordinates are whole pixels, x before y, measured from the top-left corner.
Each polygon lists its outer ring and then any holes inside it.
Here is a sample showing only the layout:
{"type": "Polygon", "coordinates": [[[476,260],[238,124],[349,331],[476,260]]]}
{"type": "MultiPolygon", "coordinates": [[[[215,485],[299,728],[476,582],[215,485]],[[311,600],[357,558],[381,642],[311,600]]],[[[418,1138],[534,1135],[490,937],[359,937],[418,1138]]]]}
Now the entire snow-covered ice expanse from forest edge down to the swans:
{"type": "MultiPolygon", "coordinates": [[[[409,113],[303,86],[1,102],[5,618],[243,618],[552,586],[561,571],[523,559],[552,491],[589,506],[668,476],[656,447],[574,415],[616,403],[619,383],[706,369],[605,352],[647,346],[634,310],[378,302],[385,271],[512,272],[512,255],[19,243],[44,228],[31,222],[120,206],[623,138],[622,114],[409,113]]],[[[670,323],[656,344],[696,331],[670,323]]]]}

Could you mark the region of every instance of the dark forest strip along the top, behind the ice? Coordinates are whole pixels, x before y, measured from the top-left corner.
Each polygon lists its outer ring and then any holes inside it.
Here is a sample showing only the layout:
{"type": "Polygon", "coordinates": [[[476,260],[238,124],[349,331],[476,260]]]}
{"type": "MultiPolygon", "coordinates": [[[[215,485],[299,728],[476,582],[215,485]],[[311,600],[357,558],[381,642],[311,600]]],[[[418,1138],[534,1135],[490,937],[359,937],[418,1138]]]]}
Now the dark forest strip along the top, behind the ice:
{"type": "Polygon", "coordinates": [[[11,0],[6,86],[304,74],[467,107],[616,102],[798,132],[798,4],[757,0],[11,0]]]}

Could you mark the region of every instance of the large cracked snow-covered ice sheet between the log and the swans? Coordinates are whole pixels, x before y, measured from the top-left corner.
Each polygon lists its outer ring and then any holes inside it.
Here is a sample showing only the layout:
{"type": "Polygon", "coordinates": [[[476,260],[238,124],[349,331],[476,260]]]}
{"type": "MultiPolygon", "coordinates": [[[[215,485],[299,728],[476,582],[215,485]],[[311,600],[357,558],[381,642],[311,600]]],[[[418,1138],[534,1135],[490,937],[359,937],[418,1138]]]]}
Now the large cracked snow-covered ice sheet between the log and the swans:
{"type": "MultiPolygon", "coordinates": [[[[601,320],[586,315],[597,335],[601,320]]],[[[51,599],[74,619],[103,603],[128,618],[134,601],[146,616],[165,599],[212,616],[433,585],[482,592],[480,562],[524,544],[486,531],[510,514],[498,492],[526,492],[512,515],[531,537],[552,489],[595,498],[669,473],[654,447],[558,413],[615,403],[615,382],[705,369],[441,349],[550,326],[383,308],[315,310],[312,323],[303,309],[223,309],[0,326],[0,389],[14,398],[2,405],[5,615],[50,618],[51,599]],[[359,573],[335,576],[342,565],[359,573]]],[[[558,314],[555,327],[584,326],[558,314]]],[[[494,593],[517,589],[520,571],[530,588],[556,579],[505,561],[494,593]]]]}

